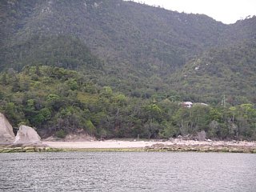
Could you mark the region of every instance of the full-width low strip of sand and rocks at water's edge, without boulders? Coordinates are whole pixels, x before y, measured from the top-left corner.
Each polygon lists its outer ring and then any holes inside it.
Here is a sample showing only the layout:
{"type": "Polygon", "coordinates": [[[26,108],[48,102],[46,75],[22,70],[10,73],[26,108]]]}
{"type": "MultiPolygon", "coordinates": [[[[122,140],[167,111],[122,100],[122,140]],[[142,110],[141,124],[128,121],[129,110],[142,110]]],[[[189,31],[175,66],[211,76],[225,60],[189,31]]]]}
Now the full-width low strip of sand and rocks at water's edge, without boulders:
{"type": "Polygon", "coordinates": [[[194,141],[173,139],[171,141],[85,141],[60,142],[42,141],[42,145],[30,146],[0,146],[0,153],[14,152],[149,152],[149,151],[177,151],[177,152],[229,152],[256,154],[256,142],[246,141],[194,141]]]}

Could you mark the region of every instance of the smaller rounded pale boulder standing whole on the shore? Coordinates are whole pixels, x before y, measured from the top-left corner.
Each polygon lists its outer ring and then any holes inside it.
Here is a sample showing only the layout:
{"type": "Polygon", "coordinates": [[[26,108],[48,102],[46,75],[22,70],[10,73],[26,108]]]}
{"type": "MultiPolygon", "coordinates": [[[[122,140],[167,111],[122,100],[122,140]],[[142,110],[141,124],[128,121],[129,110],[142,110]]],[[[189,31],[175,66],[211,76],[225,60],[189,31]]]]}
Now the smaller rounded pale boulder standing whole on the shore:
{"type": "Polygon", "coordinates": [[[41,138],[30,126],[20,126],[15,137],[14,145],[40,145],[41,138]]]}

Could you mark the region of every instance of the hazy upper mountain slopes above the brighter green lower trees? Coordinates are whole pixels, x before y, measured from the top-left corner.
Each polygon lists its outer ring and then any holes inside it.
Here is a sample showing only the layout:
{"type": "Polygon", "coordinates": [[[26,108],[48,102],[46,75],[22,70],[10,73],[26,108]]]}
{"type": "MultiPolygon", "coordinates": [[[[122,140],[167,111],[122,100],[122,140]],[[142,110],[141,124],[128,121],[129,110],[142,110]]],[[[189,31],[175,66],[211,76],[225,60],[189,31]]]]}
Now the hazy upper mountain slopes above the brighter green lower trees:
{"type": "Polygon", "coordinates": [[[178,90],[185,98],[195,94],[194,101],[219,100],[224,93],[253,101],[254,75],[247,78],[244,71],[254,72],[254,48],[245,42],[255,38],[255,17],[224,25],[206,15],[122,0],[3,0],[0,10],[1,70],[62,66],[136,97],[178,90]],[[202,61],[212,69],[194,70],[202,61]],[[241,68],[240,75],[230,62],[241,68]]]}

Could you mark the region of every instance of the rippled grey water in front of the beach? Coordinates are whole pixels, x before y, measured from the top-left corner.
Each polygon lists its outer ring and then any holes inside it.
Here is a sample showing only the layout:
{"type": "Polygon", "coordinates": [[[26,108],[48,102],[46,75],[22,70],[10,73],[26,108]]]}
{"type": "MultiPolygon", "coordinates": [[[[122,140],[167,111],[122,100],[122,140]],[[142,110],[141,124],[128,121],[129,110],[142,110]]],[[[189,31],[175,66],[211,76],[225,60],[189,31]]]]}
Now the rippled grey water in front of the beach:
{"type": "Polygon", "coordinates": [[[0,154],[0,191],[256,191],[256,155],[0,154]]]}

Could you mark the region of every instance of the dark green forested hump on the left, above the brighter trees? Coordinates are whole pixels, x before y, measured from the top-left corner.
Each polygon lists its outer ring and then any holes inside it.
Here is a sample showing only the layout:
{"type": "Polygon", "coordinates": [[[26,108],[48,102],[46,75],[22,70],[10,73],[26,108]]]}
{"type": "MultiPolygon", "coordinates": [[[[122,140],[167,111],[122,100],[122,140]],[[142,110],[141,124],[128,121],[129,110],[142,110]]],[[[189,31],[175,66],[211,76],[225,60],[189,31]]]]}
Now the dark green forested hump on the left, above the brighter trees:
{"type": "Polygon", "coordinates": [[[66,69],[103,70],[103,62],[91,54],[89,48],[78,38],[72,36],[34,35],[25,42],[15,43],[10,49],[3,50],[3,66],[22,70],[26,65],[48,65],[66,69]]]}

